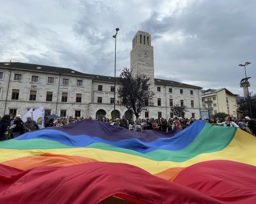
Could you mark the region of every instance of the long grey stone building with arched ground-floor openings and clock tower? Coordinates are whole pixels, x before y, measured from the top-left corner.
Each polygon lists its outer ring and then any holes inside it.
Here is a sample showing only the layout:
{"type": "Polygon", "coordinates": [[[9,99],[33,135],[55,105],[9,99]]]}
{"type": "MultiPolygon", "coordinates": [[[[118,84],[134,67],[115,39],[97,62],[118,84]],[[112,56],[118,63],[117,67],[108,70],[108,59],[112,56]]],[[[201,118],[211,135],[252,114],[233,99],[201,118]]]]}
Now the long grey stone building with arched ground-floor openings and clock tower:
{"type": "MultiPolygon", "coordinates": [[[[184,117],[200,118],[201,87],[154,78],[154,50],[148,33],[138,31],[132,40],[131,70],[150,77],[156,93],[155,106],[142,112],[141,118],[174,117],[170,106],[175,104],[187,107],[189,112],[184,117]]],[[[24,115],[31,107],[44,106],[45,116],[101,118],[113,115],[114,91],[114,77],[62,67],[0,62],[0,115],[24,115]]],[[[133,118],[117,101],[116,117],[133,118]]]]}

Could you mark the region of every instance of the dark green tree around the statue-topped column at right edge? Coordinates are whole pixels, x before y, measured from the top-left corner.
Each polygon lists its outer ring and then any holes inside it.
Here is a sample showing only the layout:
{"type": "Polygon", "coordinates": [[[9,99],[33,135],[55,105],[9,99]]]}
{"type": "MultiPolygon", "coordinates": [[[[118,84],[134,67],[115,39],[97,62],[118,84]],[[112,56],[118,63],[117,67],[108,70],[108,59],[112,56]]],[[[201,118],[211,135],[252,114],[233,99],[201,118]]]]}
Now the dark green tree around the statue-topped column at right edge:
{"type": "MultiPolygon", "coordinates": [[[[251,113],[252,117],[256,117],[256,94],[252,95],[252,92],[249,93],[249,99],[251,104],[251,113]]],[[[249,100],[247,98],[242,98],[237,101],[238,111],[241,113],[241,118],[245,116],[250,116],[250,106],[249,100]]]]}

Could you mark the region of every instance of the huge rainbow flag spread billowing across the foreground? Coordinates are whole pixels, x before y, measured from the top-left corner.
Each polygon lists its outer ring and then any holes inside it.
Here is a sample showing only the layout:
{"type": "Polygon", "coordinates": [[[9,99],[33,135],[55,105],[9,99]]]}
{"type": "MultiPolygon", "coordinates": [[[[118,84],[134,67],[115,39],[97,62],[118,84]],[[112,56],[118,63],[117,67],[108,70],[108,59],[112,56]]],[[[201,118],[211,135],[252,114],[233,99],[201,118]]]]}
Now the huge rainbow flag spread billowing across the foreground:
{"type": "Polygon", "coordinates": [[[256,138],[236,127],[81,121],[0,142],[0,203],[256,203],[255,166],[256,138]]]}

